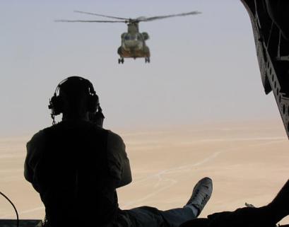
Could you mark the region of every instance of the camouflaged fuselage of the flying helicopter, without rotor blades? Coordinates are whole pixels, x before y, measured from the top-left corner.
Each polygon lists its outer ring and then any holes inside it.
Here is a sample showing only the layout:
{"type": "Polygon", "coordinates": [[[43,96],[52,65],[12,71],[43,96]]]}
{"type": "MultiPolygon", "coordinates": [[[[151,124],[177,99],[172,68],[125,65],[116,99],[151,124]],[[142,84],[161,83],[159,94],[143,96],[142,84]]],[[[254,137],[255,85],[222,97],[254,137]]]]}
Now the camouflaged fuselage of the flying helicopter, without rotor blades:
{"type": "Polygon", "coordinates": [[[118,49],[120,56],[119,63],[124,62],[124,58],[143,57],[146,62],[150,62],[150,51],[146,46],[148,33],[139,33],[138,23],[129,23],[127,33],[122,33],[122,45],[118,49]]]}

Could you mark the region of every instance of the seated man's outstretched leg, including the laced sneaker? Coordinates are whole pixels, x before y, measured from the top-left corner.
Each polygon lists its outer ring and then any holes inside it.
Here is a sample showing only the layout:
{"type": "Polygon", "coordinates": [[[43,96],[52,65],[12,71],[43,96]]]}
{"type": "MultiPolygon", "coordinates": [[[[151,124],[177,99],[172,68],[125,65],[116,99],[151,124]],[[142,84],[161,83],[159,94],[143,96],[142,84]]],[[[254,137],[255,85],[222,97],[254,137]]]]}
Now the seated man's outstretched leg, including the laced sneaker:
{"type": "Polygon", "coordinates": [[[131,216],[136,227],[178,227],[180,224],[195,219],[211,197],[212,180],[201,179],[194,187],[191,198],[183,208],[160,211],[149,206],[141,206],[125,212],[131,216]]]}

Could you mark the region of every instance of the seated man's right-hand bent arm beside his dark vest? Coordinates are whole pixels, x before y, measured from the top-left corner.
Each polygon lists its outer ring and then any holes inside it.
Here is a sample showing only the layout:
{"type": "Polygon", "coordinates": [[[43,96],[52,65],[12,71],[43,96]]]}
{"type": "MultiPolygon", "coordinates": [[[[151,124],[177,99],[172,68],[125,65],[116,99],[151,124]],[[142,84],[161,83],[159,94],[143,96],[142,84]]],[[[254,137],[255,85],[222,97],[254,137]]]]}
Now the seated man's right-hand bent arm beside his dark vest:
{"type": "Polygon", "coordinates": [[[111,131],[107,135],[107,160],[110,173],[117,179],[117,187],[129,185],[132,180],[131,167],[124,141],[111,131]]]}

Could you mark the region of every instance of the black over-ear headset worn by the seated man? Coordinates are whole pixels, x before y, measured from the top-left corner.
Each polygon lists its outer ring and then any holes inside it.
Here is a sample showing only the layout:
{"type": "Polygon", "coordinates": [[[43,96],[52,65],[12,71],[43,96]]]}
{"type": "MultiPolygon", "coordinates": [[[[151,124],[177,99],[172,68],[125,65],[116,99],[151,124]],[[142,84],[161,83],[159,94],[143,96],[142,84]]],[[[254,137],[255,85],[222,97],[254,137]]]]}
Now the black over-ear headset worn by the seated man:
{"type": "Polygon", "coordinates": [[[49,99],[49,105],[48,108],[51,110],[51,117],[52,117],[52,124],[55,124],[54,117],[56,115],[60,115],[63,112],[64,109],[64,100],[63,97],[59,94],[59,91],[61,90],[61,86],[63,86],[68,81],[78,81],[80,83],[83,83],[83,86],[85,89],[87,88],[88,93],[88,102],[87,102],[87,111],[90,114],[95,114],[95,112],[101,112],[100,103],[98,99],[98,95],[95,93],[95,90],[93,88],[93,84],[88,81],[88,79],[83,78],[81,76],[70,76],[68,78],[65,78],[63,81],[61,81],[57,88],[54,91],[54,95],[52,98],[49,99]]]}

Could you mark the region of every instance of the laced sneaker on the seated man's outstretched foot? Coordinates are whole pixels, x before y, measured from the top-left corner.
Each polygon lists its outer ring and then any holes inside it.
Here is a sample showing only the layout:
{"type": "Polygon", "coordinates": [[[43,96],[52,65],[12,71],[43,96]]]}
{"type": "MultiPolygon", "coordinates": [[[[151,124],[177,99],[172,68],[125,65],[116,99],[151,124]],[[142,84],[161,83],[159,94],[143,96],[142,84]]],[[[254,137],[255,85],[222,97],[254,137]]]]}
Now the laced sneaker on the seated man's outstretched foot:
{"type": "Polygon", "coordinates": [[[213,182],[211,178],[204,177],[196,183],[191,198],[187,202],[186,206],[194,206],[199,212],[196,216],[201,214],[201,211],[206,206],[208,199],[211,198],[213,192],[213,182]]]}

